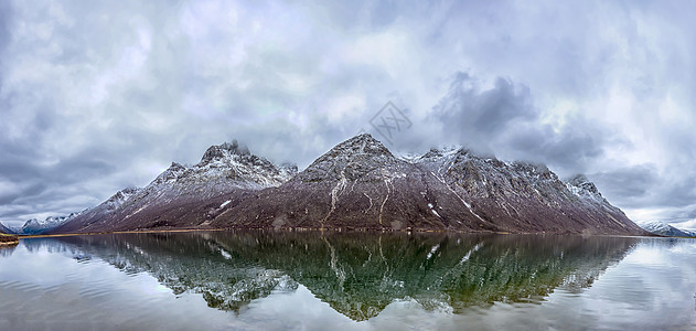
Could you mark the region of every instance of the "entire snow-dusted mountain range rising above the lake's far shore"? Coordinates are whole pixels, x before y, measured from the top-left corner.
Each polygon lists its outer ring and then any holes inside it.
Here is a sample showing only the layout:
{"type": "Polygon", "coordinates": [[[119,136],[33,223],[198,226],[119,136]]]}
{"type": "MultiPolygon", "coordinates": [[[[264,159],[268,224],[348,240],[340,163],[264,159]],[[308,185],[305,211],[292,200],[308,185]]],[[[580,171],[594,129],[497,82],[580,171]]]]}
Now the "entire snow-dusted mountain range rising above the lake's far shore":
{"type": "Polygon", "coordinates": [[[395,157],[353,137],[302,172],[236,141],[117,192],[50,233],[172,228],[317,228],[646,235],[582,175],[463,148],[395,157]]]}

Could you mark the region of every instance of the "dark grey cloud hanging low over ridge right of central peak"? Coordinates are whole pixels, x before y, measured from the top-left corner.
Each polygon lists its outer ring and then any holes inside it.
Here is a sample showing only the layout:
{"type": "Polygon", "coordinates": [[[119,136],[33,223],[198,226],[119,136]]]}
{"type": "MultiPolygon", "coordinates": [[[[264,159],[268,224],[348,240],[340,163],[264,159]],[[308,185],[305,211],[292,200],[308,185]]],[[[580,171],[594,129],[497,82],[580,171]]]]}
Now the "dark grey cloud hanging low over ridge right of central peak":
{"type": "Polygon", "coordinates": [[[433,108],[430,120],[441,125],[451,141],[503,158],[545,162],[564,172],[582,172],[602,157],[609,132],[601,125],[566,118],[555,128],[543,122],[528,87],[501,77],[490,88],[481,85],[459,73],[433,108]]]}

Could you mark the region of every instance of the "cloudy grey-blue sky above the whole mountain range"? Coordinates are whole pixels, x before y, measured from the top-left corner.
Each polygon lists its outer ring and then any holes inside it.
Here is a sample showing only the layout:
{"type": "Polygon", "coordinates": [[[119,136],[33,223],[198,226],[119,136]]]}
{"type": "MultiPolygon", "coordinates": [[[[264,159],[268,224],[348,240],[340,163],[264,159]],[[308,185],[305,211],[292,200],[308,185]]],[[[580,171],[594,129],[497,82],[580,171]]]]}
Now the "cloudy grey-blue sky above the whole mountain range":
{"type": "Polygon", "coordinates": [[[392,102],[395,151],[544,162],[696,228],[696,2],[324,2],[0,1],[0,221],[232,139],[301,169],[361,130],[384,141],[392,102]]]}

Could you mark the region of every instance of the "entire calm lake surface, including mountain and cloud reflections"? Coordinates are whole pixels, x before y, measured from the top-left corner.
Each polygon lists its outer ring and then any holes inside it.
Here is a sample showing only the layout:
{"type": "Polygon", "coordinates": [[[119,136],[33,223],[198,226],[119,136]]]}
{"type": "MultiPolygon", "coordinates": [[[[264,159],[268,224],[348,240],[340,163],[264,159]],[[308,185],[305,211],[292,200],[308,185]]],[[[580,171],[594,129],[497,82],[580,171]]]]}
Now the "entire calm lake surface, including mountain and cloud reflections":
{"type": "Polygon", "coordinates": [[[0,249],[2,330],[696,330],[696,241],[213,232],[0,249]]]}

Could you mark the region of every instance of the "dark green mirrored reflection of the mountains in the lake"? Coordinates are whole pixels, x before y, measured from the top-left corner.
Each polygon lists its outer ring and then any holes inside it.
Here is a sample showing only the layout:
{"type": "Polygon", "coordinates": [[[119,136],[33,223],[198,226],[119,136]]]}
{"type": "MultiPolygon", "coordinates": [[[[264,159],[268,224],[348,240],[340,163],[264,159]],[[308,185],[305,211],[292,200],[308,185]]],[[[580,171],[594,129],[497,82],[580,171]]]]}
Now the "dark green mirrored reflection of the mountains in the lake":
{"type": "Polygon", "coordinates": [[[579,291],[620,261],[635,238],[212,232],[61,238],[79,260],[101,258],[147,271],[179,295],[238,311],[298,284],[353,320],[395,300],[454,313],[494,301],[538,301],[556,288],[579,291]]]}

